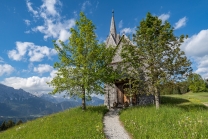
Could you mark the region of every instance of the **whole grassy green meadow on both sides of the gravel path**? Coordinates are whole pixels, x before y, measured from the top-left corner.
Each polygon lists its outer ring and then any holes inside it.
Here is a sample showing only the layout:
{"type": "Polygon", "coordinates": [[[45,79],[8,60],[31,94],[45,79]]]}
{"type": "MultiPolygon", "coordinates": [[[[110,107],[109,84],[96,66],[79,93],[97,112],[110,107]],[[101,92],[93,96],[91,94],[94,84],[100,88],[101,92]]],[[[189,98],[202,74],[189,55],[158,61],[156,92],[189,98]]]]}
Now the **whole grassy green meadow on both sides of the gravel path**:
{"type": "MultiPolygon", "coordinates": [[[[120,120],[134,139],[207,139],[208,93],[161,97],[155,106],[120,112],[120,120]]],[[[102,139],[104,106],[80,107],[42,117],[0,133],[0,139],[102,139]]]]}

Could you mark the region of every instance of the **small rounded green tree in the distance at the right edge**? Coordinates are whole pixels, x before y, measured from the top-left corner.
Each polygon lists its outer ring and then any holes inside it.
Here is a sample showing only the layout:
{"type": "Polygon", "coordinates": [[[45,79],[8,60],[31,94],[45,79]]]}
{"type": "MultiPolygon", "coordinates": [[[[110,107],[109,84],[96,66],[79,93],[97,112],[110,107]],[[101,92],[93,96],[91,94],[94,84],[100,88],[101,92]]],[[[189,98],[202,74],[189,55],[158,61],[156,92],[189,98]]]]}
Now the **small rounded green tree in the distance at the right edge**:
{"type": "Polygon", "coordinates": [[[206,82],[199,74],[196,73],[191,74],[188,77],[188,83],[189,83],[189,89],[194,93],[207,91],[206,82]]]}

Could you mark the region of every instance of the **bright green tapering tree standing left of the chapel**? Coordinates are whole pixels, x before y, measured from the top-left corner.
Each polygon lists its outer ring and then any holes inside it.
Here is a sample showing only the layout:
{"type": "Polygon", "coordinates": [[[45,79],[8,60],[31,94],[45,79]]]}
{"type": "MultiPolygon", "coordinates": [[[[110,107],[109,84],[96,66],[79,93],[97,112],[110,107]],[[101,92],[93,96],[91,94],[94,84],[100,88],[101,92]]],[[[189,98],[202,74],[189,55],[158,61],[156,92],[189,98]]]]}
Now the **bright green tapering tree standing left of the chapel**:
{"type": "Polygon", "coordinates": [[[71,28],[71,36],[67,45],[59,41],[54,46],[59,55],[59,62],[54,64],[57,76],[49,85],[54,87],[52,94],[65,92],[70,96],[82,98],[82,108],[86,109],[86,98],[92,93],[103,94],[104,83],[111,84],[116,74],[109,66],[115,50],[99,44],[94,32],[95,26],[80,13],[76,28],[71,28]]]}

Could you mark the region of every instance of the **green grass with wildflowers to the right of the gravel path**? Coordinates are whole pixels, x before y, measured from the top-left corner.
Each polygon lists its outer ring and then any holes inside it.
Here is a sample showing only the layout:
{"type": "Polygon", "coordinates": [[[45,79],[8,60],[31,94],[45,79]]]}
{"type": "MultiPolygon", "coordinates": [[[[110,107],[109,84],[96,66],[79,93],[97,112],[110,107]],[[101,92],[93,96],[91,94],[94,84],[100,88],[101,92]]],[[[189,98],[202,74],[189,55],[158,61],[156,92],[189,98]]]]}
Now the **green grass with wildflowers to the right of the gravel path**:
{"type": "Polygon", "coordinates": [[[208,138],[208,93],[170,95],[155,106],[123,110],[120,120],[135,139],[203,139],[208,138]]]}

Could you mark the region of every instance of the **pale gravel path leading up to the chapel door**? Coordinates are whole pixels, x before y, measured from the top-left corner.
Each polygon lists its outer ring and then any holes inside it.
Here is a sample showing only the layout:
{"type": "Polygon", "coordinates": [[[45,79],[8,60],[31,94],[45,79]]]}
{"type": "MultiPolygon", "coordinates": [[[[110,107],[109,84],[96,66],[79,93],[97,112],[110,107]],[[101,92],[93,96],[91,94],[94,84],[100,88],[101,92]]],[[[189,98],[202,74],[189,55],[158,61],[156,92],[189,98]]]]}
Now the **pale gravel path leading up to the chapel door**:
{"type": "Polygon", "coordinates": [[[120,109],[110,109],[104,116],[104,133],[107,139],[131,139],[119,121],[120,109]]]}

